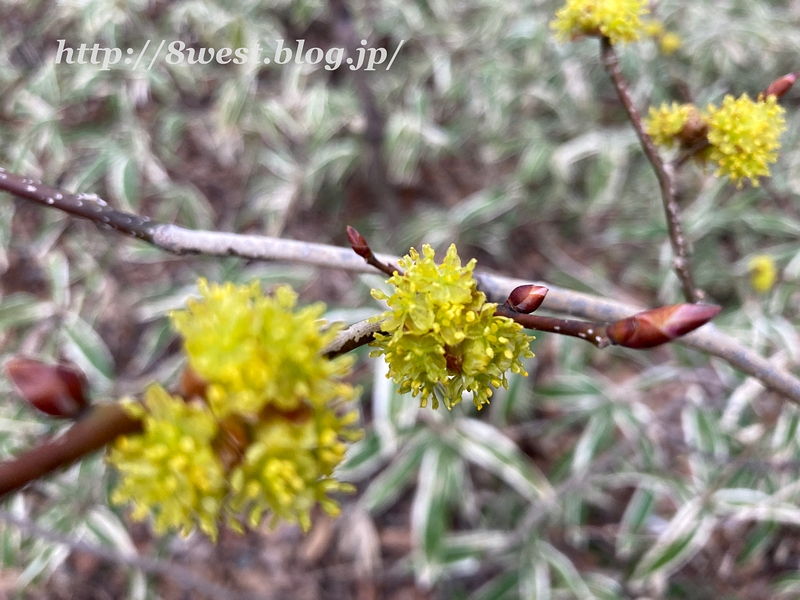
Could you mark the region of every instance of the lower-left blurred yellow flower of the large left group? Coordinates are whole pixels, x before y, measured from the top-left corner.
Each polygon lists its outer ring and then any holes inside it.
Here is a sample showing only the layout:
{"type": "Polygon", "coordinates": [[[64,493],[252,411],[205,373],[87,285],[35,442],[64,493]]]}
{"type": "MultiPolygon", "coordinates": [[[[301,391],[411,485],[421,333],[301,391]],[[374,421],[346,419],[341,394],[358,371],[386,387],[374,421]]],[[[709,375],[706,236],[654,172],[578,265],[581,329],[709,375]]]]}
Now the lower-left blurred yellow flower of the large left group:
{"type": "Polygon", "coordinates": [[[216,538],[226,483],[212,448],[217,422],[211,411],[156,384],[147,388],[144,406],[130,401],[125,407],[144,429],[118,438],[111,449],[108,462],[122,476],[111,501],[133,503],[136,520],[152,514],[158,533],[186,535],[199,525],[216,538]]]}

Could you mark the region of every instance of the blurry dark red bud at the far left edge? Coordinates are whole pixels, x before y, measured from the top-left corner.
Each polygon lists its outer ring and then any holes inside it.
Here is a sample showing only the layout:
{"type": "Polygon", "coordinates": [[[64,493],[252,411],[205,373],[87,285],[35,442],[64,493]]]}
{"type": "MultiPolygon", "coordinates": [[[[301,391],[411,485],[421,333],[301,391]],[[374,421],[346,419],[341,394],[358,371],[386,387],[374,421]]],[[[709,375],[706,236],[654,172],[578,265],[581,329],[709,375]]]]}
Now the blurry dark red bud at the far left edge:
{"type": "Polygon", "coordinates": [[[74,367],[15,357],[6,363],[6,372],[20,396],[53,417],[75,419],[89,405],[86,377],[74,367]]]}

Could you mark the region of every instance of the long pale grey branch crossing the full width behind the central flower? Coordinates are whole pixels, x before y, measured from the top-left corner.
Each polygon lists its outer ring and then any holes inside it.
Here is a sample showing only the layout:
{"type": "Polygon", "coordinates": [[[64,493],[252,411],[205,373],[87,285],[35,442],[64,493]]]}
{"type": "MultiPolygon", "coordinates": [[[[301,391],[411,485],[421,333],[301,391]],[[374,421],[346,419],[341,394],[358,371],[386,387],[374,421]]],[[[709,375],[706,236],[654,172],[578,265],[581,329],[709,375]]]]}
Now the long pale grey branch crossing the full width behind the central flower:
{"type": "MultiPolygon", "coordinates": [[[[90,219],[101,226],[111,226],[118,231],[138,237],[165,252],[278,260],[329,269],[342,269],[355,273],[376,274],[374,267],[367,265],[350,248],[266,236],[192,230],[177,225],[159,224],[146,217],[115,211],[99,199],[92,200],[91,207],[87,209],[86,195],[83,195],[84,200],[81,201],[81,206],[77,206],[80,194],[55,190],[55,188],[38,183],[20,184],[22,177],[4,171],[0,171],[0,175],[5,175],[5,178],[0,177],[0,190],[9,191],[43,206],[57,208],[90,219]],[[28,185],[32,185],[35,189],[31,191],[28,185]],[[106,221],[104,217],[109,220],[106,221]]],[[[397,257],[394,256],[377,256],[383,262],[397,261],[397,257]]],[[[531,283],[488,273],[475,273],[475,277],[478,279],[481,291],[486,293],[489,301],[498,304],[505,302],[514,288],[531,283]]],[[[568,314],[581,319],[610,323],[624,319],[645,308],[609,298],[565,290],[550,284],[543,285],[549,289],[547,298],[542,305],[544,310],[568,314]]],[[[359,335],[362,333],[359,332],[359,335]]],[[[800,379],[788,371],[770,364],[766,358],[725,335],[713,324],[704,325],[673,343],[721,358],[734,368],[755,377],[771,390],[786,396],[793,402],[800,403],[800,379]]]]}

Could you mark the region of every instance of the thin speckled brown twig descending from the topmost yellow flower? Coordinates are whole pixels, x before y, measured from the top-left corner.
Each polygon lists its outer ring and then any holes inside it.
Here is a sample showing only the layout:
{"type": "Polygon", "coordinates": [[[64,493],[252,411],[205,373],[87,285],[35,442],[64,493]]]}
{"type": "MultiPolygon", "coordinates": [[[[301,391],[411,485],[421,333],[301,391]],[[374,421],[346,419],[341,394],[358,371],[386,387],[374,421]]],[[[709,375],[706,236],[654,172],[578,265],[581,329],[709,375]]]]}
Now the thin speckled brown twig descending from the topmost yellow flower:
{"type": "Polygon", "coordinates": [[[669,239],[672,244],[672,253],[674,254],[672,266],[675,269],[675,273],[678,275],[678,279],[681,281],[681,287],[683,287],[683,294],[686,300],[688,302],[702,302],[705,300],[705,294],[697,289],[694,283],[691,265],[689,264],[689,244],[686,240],[686,236],[683,234],[683,228],[681,227],[680,208],[678,207],[678,201],[675,197],[675,169],[671,164],[661,160],[661,157],[658,155],[658,150],[656,150],[655,144],[653,144],[653,140],[650,139],[650,136],[647,135],[647,132],[644,130],[642,116],[636,109],[636,105],[634,105],[633,99],[628,91],[628,84],[622,76],[622,71],[619,68],[619,57],[614,51],[614,47],[611,45],[608,38],[605,37],[602,39],[601,44],[603,68],[605,68],[611,78],[611,82],[614,84],[614,88],[617,90],[617,95],[622,105],[625,107],[625,111],[628,113],[628,118],[633,124],[633,128],[636,130],[636,135],[642,145],[644,154],[653,166],[656,179],[658,179],[658,187],[661,190],[661,200],[664,204],[664,212],[667,216],[669,239]]]}

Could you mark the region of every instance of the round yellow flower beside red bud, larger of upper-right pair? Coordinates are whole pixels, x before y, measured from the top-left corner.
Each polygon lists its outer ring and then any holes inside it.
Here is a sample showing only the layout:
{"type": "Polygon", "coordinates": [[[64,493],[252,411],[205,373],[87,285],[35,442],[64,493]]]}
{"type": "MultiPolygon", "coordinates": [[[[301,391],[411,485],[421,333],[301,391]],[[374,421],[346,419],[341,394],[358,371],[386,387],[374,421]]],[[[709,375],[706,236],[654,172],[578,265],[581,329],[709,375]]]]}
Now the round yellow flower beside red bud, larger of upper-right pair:
{"type": "Polygon", "coordinates": [[[712,146],[709,157],[718,164],[716,175],[728,175],[739,188],[744,179],[758,186],[758,178],[769,175],[769,164],[778,158],[780,136],[786,130],[784,112],[775,96],[725,96],[721,107],[709,104],[705,121],[712,146]]]}

